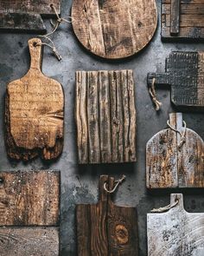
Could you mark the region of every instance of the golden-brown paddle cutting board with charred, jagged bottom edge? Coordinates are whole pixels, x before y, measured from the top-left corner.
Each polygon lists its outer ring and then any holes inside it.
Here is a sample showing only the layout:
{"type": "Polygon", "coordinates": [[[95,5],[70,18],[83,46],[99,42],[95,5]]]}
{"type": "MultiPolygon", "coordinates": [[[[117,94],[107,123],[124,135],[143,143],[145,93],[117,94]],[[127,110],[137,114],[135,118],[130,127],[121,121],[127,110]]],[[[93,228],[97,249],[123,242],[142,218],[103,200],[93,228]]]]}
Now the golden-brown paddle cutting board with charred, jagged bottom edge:
{"type": "Polygon", "coordinates": [[[64,94],[59,82],[41,73],[41,40],[30,39],[29,51],[28,73],[7,86],[7,152],[17,160],[50,160],[63,148],[64,94]]]}

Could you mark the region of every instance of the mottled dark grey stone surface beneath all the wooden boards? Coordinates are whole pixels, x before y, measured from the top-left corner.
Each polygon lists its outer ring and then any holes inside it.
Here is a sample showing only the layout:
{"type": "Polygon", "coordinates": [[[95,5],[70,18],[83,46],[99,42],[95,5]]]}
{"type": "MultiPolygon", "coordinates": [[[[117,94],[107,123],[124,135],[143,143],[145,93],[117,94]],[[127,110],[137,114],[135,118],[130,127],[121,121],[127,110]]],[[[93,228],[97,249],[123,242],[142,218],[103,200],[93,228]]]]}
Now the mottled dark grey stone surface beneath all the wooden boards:
{"type": "MultiPolygon", "coordinates": [[[[61,15],[70,15],[72,1],[62,0],[61,15]]],[[[126,181],[115,194],[115,203],[137,207],[139,223],[140,256],[147,255],[146,213],[153,207],[169,204],[170,191],[150,193],[145,188],[145,144],[163,128],[168,114],[175,111],[170,103],[169,90],[158,89],[163,110],[158,114],[153,108],[146,85],[148,72],[163,72],[165,58],[172,50],[203,50],[202,43],[162,43],[160,37],[160,1],[157,1],[159,23],[151,43],[139,54],[126,60],[107,61],[93,56],[84,49],[73,34],[71,24],[61,24],[53,40],[63,59],[58,62],[50,49],[44,50],[43,72],[61,82],[65,91],[65,144],[58,161],[43,162],[40,159],[22,163],[10,161],[3,142],[4,94],[8,82],[22,77],[29,69],[29,38],[31,34],[0,34],[0,171],[18,169],[61,170],[61,256],[77,255],[75,204],[95,203],[98,200],[100,174],[117,178],[127,175],[126,181]],[[74,73],[76,70],[133,69],[137,100],[137,163],[79,166],[76,153],[76,127],[74,123],[74,73]]],[[[49,27],[48,21],[46,22],[49,27]]],[[[51,28],[50,28],[51,29],[51,28]]],[[[194,129],[204,139],[203,113],[183,114],[188,128],[194,129]]],[[[174,191],[176,192],[176,190],[174,191]]],[[[177,191],[177,192],[181,192],[177,191]]],[[[189,212],[204,212],[202,190],[183,190],[185,207],[189,212]]]]}

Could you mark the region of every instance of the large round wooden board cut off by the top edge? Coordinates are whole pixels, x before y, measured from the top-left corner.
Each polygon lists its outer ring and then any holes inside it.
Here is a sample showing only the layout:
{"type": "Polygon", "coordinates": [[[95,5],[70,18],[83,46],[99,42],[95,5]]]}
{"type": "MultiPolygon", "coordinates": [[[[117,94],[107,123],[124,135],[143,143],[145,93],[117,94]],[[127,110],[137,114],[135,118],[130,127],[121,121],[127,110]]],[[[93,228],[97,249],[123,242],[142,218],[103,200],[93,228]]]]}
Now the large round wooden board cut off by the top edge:
{"type": "Polygon", "coordinates": [[[157,25],[155,0],[74,0],[72,17],[80,43],[109,59],[132,56],[143,49],[157,25]]]}

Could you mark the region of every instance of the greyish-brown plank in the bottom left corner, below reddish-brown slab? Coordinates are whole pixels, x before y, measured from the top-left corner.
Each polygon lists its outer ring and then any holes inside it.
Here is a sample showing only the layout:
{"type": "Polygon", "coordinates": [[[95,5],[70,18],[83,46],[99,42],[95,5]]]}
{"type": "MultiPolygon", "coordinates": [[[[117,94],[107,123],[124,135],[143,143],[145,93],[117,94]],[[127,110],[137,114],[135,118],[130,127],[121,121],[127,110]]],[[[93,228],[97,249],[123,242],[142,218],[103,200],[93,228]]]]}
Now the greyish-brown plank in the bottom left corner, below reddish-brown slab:
{"type": "Polygon", "coordinates": [[[59,256],[57,227],[0,227],[1,256],[59,256]]]}

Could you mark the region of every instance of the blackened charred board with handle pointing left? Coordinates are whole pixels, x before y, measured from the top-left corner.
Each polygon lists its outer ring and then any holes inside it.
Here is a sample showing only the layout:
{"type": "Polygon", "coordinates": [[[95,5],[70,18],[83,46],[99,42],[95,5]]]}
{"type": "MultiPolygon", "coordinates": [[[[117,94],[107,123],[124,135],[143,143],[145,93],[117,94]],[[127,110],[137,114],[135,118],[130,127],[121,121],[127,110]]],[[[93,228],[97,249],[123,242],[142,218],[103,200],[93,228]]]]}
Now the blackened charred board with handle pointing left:
{"type": "Polygon", "coordinates": [[[171,102],[178,108],[204,110],[204,52],[173,51],[165,73],[149,73],[148,85],[169,85],[171,102]]]}

